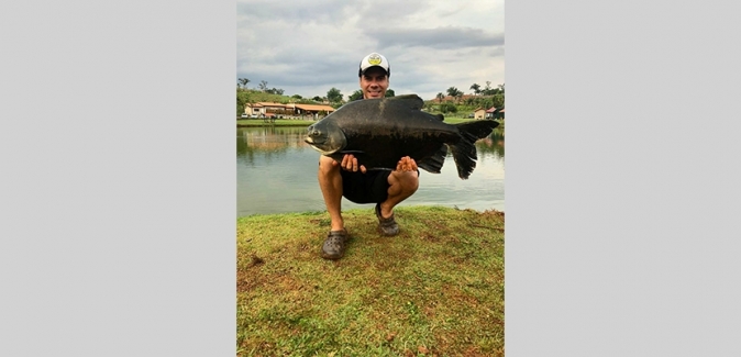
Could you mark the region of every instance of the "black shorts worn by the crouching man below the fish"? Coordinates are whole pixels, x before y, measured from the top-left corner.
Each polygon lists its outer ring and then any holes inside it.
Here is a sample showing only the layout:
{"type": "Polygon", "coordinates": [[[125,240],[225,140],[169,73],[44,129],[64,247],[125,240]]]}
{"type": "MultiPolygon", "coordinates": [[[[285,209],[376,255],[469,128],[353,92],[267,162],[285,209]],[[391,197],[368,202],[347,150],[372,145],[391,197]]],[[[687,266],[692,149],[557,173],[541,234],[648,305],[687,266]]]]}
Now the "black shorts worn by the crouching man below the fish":
{"type": "Polygon", "coordinates": [[[388,176],[390,170],[368,170],[352,172],[340,170],[342,196],[355,203],[380,203],[388,198],[388,176]]]}

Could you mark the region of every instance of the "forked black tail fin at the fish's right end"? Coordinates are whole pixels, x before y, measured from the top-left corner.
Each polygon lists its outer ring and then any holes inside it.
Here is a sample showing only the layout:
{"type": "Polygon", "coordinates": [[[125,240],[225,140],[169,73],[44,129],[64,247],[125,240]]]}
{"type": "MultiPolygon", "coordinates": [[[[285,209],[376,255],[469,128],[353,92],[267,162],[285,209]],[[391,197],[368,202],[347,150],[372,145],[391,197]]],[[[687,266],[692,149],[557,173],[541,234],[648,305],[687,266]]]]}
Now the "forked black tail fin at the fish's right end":
{"type": "Polygon", "coordinates": [[[476,168],[476,141],[491,134],[499,123],[493,120],[477,120],[454,125],[458,129],[461,141],[451,145],[451,152],[458,169],[458,177],[465,180],[476,168]]]}

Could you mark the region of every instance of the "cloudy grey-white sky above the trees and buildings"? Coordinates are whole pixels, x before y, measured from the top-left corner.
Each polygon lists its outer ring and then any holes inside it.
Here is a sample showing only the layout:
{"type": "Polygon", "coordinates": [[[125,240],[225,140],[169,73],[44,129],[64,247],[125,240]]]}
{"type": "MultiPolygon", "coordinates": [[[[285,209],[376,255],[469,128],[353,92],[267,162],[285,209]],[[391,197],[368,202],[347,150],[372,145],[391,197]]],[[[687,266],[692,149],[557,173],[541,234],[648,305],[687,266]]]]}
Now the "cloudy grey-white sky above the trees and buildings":
{"type": "Polygon", "coordinates": [[[505,82],[504,0],[237,0],[236,21],[236,78],[250,88],[346,99],[372,52],[391,64],[397,96],[505,82]]]}

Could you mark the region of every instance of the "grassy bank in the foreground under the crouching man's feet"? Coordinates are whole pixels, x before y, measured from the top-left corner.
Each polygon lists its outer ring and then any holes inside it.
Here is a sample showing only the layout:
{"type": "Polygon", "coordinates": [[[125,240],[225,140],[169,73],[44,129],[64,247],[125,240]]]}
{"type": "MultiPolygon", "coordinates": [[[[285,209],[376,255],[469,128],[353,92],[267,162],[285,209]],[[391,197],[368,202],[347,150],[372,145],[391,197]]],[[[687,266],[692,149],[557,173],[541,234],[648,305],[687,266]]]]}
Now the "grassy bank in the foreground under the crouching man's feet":
{"type": "Polygon", "coordinates": [[[344,212],[345,256],[319,256],[325,212],[237,220],[239,356],[504,356],[502,212],[344,212]]]}

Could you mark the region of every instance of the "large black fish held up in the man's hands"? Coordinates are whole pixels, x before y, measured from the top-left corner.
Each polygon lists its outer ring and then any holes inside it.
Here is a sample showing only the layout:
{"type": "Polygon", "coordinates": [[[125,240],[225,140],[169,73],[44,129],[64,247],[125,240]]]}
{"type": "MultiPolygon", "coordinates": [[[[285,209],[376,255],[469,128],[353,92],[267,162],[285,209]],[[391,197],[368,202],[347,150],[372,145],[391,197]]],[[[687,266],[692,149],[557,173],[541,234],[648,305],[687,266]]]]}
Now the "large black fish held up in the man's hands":
{"type": "Polygon", "coordinates": [[[443,115],[421,111],[417,94],[356,100],[309,126],[306,142],[342,160],[353,154],[368,170],[394,170],[403,156],[420,168],[440,174],[447,148],[458,177],[467,179],[476,167],[476,143],[499,125],[493,120],[443,123],[443,115]]]}

